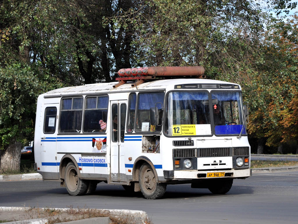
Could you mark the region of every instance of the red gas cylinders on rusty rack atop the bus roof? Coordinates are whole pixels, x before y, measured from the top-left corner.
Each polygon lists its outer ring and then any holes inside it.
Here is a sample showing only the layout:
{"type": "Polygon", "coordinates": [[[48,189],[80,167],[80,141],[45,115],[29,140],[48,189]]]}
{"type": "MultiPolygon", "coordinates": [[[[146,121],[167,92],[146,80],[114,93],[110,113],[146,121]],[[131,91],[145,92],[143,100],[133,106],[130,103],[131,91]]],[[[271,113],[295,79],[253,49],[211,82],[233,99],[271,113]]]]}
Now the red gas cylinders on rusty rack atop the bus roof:
{"type": "Polygon", "coordinates": [[[118,75],[116,80],[118,83],[113,85],[117,88],[125,84],[127,81],[135,81],[132,87],[142,84],[145,80],[152,79],[169,79],[169,78],[197,78],[204,79],[204,67],[140,67],[140,68],[122,68],[115,74],[118,75]]]}

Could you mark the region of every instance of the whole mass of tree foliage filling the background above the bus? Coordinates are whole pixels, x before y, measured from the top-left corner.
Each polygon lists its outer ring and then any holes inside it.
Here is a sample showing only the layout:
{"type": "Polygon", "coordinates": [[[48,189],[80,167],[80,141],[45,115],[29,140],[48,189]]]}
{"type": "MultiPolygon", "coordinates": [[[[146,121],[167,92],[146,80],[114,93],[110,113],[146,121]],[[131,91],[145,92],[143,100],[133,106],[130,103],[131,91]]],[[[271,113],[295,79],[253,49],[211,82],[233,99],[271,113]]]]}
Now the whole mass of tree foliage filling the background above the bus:
{"type": "Polygon", "coordinates": [[[202,65],[210,79],[240,83],[253,137],[271,146],[297,138],[297,18],[280,22],[269,14],[296,6],[288,0],[1,1],[1,149],[14,137],[32,140],[40,93],[109,82],[114,70],[146,65],[202,65]]]}

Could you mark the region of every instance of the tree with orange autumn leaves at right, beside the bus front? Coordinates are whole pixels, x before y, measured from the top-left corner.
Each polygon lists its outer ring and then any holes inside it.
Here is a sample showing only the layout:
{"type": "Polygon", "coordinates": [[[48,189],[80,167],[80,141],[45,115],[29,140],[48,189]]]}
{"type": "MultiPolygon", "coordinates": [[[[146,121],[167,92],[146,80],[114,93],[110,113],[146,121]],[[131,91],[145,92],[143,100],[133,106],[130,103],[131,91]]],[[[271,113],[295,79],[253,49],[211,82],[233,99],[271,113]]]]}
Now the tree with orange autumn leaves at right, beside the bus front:
{"type": "MultiPolygon", "coordinates": [[[[262,52],[264,60],[257,66],[250,86],[258,86],[252,98],[250,133],[266,137],[266,145],[278,147],[298,138],[298,17],[268,27],[262,52]],[[261,93],[261,94],[260,94],[261,93]]],[[[297,144],[297,143],[296,143],[297,144]]]]}

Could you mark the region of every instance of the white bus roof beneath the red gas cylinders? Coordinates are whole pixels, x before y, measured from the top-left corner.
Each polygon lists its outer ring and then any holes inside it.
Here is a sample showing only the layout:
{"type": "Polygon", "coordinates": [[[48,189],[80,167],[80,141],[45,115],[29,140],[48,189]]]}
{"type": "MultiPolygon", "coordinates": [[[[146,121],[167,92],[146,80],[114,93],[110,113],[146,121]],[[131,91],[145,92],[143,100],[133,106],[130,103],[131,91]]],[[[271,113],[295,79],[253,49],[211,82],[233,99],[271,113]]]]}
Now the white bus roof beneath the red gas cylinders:
{"type": "MultiPolygon", "coordinates": [[[[218,85],[237,85],[231,82],[224,82],[212,79],[159,79],[154,81],[147,81],[139,84],[137,87],[132,87],[133,82],[127,82],[117,88],[113,88],[113,85],[118,82],[109,83],[94,83],[81,86],[64,87],[60,89],[51,90],[44,94],[44,96],[60,96],[60,95],[72,95],[72,94],[92,94],[92,93],[106,93],[106,92],[129,92],[134,90],[153,90],[153,89],[174,89],[175,85],[185,85],[185,84],[207,84],[205,88],[201,89],[214,89],[208,88],[212,84],[218,85]]],[[[239,88],[240,89],[240,86],[239,88]]]]}

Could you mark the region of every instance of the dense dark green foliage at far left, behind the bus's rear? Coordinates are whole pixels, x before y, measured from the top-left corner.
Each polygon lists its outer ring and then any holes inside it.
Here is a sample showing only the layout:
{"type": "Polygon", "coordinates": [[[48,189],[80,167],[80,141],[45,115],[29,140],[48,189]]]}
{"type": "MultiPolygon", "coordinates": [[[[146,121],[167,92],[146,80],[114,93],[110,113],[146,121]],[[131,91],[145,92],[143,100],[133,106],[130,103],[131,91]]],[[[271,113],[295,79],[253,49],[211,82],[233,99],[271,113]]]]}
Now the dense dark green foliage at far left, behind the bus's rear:
{"type": "Polygon", "coordinates": [[[58,85],[53,77],[20,62],[0,68],[0,81],[0,147],[4,149],[13,138],[32,141],[37,97],[58,85]]]}

